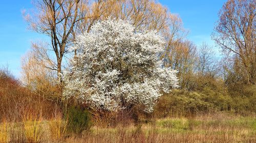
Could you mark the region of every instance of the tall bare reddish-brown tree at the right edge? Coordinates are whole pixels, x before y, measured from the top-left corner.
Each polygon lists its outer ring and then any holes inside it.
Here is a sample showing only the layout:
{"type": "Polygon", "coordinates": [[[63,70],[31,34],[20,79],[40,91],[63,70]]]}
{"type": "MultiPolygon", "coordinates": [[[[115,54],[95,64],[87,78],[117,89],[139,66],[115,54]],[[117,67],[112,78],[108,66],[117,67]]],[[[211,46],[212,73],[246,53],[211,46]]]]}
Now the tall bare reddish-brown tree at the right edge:
{"type": "Polygon", "coordinates": [[[256,83],[256,1],[229,0],[219,12],[212,39],[233,56],[247,84],[256,83]]]}

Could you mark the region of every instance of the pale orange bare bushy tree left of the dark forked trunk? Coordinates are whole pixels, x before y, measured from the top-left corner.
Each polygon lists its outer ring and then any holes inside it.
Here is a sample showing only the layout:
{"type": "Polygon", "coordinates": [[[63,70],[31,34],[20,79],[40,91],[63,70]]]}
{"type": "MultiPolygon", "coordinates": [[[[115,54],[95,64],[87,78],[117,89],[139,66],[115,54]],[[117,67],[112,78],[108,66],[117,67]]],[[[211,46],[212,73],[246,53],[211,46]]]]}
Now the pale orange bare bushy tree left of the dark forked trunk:
{"type": "Polygon", "coordinates": [[[36,95],[47,100],[58,101],[60,90],[56,84],[56,74],[53,70],[45,68],[49,65],[48,60],[38,59],[36,48],[32,47],[32,50],[22,57],[22,82],[36,95]]]}

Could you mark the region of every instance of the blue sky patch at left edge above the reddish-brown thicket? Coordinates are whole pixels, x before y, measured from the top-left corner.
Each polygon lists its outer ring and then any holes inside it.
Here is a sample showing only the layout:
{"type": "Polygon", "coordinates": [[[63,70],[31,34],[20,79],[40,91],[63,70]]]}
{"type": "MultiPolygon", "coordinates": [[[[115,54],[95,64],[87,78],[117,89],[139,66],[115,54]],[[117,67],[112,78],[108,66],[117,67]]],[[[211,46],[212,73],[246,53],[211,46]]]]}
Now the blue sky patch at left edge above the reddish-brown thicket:
{"type": "Polygon", "coordinates": [[[9,70],[20,76],[20,59],[40,34],[28,30],[22,10],[32,8],[31,1],[1,1],[0,5],[0,67],[8,65],[9,70]]]}

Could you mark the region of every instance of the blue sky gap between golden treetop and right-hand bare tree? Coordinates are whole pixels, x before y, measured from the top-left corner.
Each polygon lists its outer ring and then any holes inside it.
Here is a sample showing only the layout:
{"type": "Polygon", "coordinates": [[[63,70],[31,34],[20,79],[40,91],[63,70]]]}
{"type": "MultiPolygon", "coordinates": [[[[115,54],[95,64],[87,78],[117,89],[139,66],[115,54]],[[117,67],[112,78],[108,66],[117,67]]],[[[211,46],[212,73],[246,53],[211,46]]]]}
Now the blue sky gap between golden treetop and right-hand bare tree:
{"type": "Polygon", "coordinates": [[[189,30],[188,39],[195,44],[203,41],[214,45],[210,34],[218,20],[218,12],[226,0],[160,0],[170,12],[180,15],[183,25],[189,30]]]}

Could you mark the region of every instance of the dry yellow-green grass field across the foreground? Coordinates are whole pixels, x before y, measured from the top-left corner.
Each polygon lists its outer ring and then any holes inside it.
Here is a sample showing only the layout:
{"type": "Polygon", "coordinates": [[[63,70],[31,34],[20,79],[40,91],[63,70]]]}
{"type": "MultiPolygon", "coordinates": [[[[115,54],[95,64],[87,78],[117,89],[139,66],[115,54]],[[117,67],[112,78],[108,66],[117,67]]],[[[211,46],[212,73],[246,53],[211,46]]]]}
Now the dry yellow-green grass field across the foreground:
{"type": "Polygon", "coordinates": [[[256,142],[256,117],[226,113],[142,120],[137,125],[120,124],[109,128],[93,125],[79,135],[70,134],[65,125],[58,126],[60,122],[3,122],[0,142],[256,142]]]}

